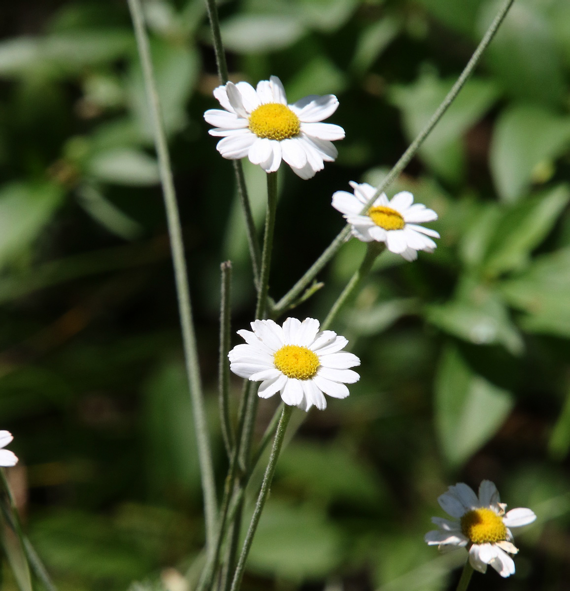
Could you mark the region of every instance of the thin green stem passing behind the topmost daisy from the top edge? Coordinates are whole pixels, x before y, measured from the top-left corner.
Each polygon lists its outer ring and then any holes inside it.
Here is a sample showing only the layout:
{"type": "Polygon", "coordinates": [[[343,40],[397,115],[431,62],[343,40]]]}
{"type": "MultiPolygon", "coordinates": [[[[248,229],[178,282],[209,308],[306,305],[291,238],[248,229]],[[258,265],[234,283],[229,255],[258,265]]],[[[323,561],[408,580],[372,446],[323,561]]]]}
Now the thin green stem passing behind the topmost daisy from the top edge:
{"type": "MultiPolygon", "coordinates": [[[[214,53],[216,55],[218,76],[222,84],[225,84],[228,82],[229,78],[228,66],[226,64],[224,44],[222,44],[222,34],[220,32],[220,22],[218,18],[218,6],[216,5],[216,0],[206,0],[206,8],[208,9],[208,19],[210,21],[210,29],[212,30],[212,40],[214,53]]],[[[253,269],[255,286],[259,288],[261,254],[255,232],[255,223],[251,213],[251,204],[247,195],[247,187],[245,186],[244,168],[241,165],[241,160],[234,160],[234,174],[235,182],[238,187],[239,203],[241,203],[242,210],[244,211],[247,243],[250,249],[251,267],[253,269]]]]}

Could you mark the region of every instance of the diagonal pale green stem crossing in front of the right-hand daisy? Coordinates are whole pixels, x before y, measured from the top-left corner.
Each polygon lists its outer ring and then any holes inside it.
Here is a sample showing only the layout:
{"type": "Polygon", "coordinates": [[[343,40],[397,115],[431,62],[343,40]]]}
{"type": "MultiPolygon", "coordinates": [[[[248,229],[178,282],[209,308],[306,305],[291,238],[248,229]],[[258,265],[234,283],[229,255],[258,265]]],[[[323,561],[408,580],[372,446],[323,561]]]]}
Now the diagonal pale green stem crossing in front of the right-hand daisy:
{"type": "MultiPolygon", "coordinates": [[[[422,132],[414,139],[410,147],[404,152],[401,156],[400,160],[394,165],[392,170],[388,173],[386,178],[380,183],[378,189],[375,191],[374,196],[371,197],[370,201],[366,204],[364,209],[362,209],[362,213],[366,212],[368,208],[374,203],[377,197],[388,187],[392,181],[399,176],[401,171],[406,168],[407,164],[410,160],[414,157],[416,152],[419,150],[420,146],[423,144],[425,139],[428,137],[432,129],[436,126],[439,119],[442,118],[443,113],[447,111],[449,105],[454,102],[456,96],[459,94],[459,91],[464,86],[465,82],[467,81],[468,77],[471,75],[475,66],[477,66],[478,61],[481,59],[481,56],[485,49],[487,48],[488,44],[491,43],[495,33],[497,33],[498,28],[500,27],[501,22],[503,22],[504,18],[509,12],[509,8],[513,4],[514,0],[506,0],[503,6],[501,7],[500,11],[498,11],[497,16],[494,18],[493,22],[491,23],[490,27],[487,29],[487,32],[483,36],[481,43],[478,45],[477,49],[475,50],[474,54],[471,56],[471,59],[468,61],[467,66],[461,73],[461,76],[457,79],[455,84],[453,85],[452,89],[449,91],[448,95],[443,99],[441,105],[439,105],[438,109],[435,113],[433,113],[432,117],[430,118],[428,124],[425,126],[422,132]]],[[[313,266],[300,278],[299,281],[279,300],[274,307],[274,313],[277,315],[281,313],[281,311],[287,309],[303,292],[303,290],[309,285],[309,283],[316,277],[316,275],[320,272],[320,270],[331,260],[333,255],[335,255],[336,251],[342,246],[342,243],[345,241],[346,238],[350,235],[350,225],[347,224],[344,229],[336,236],[336,238],[331,242],[328,248],[325,249],[322,255],[313,263],[313,266]]]]}

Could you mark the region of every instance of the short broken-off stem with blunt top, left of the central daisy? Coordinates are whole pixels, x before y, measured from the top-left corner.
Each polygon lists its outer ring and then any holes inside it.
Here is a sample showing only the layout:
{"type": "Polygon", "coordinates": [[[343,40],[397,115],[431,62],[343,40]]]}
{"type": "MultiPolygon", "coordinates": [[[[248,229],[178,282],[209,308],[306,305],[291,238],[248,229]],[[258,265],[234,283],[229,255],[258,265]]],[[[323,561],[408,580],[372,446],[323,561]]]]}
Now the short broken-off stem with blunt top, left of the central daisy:
{"type": "Polygon", "coordinates": [[[220,348],[218,362],[218,388],[219,388],[219,411],[220,424],[222,427],[222,438],[226,446],[228,458],[232,456],[232,446],[234,445],[234,433],[232,424],[229,420],[229,331],[231,314],[231,279],[232,264],[230,261],[222,262],[220,265],[222,271],[222,297],[220,306],[220,348]]]}

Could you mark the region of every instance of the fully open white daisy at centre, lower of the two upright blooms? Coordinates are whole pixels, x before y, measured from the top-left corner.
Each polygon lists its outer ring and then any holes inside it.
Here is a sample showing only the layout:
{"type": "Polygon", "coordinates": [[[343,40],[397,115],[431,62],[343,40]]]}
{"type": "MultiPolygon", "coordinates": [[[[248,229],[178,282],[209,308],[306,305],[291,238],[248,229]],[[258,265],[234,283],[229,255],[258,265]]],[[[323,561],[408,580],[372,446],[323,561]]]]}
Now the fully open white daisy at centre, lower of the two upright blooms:
{"type": "Polygon", "coordinates": [[[332,330],[319,332],[319,321],[288,318],[283,327],[273,320],[255,320],[250,330],[238,330],[247,344],[229,353],[229,368],[241,378],[261,382],[257,394],[270,398],[281,392],[283,402],[308,411],[326,408],[324,394],[346,398],[346,384],[360,379],[352,367],[360,359],[341,351],[348,340],[332,330]],[[323,394],[324,392],[324,394],[323,394]]]}

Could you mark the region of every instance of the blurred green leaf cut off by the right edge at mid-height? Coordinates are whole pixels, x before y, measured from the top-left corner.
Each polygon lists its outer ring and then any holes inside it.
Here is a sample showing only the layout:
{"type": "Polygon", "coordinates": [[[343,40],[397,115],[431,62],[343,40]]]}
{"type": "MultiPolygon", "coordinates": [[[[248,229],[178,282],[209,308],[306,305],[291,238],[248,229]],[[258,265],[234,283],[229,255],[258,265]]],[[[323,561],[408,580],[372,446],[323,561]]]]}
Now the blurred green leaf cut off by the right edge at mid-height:
{"type": "Polygon", "coordinates": [[[499,285],[511,306],[529,314],[522,319],[524,329],[570,336],[570,249],[537,256],[519,277],[499,285]]]}

